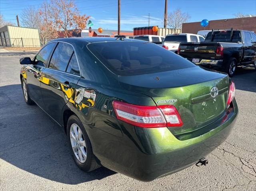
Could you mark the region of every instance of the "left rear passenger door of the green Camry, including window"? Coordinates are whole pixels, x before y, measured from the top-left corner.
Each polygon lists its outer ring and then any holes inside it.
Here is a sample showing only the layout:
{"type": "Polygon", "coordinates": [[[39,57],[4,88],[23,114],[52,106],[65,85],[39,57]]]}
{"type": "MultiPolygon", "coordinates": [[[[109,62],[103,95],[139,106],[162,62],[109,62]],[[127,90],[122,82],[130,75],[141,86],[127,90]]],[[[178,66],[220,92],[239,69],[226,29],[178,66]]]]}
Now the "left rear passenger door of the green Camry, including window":
{"type": "Polygon", "coordinates": [[[58,42],[42,73],[41,91],[45,111],[59,124],[63,106],[68,101],[74,102],[72,96],[79,79],[80,70],[72,45],[58,42]]]}

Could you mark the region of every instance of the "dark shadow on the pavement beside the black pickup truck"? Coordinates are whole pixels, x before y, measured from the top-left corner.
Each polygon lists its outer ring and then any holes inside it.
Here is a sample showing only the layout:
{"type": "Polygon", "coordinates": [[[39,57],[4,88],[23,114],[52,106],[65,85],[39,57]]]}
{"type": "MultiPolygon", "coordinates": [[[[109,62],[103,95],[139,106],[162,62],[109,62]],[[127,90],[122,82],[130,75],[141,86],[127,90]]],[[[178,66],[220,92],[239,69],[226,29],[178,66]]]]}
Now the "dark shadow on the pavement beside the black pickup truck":
{"type": "Polygon", "coordinates": [[[231,80],[235,83],[236,89],[256,92],[256,69],[237,68],[231,80]]]}

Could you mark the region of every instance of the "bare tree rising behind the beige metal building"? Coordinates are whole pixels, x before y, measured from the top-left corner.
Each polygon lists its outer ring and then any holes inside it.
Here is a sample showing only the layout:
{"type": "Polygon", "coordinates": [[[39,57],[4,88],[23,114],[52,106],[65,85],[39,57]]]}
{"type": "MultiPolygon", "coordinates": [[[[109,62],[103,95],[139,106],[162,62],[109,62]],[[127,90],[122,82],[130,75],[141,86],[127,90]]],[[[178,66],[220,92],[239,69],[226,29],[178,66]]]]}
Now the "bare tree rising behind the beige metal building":
{"type": "Polygon", "coordinates": [[[33,6],[25,8],[21,14],[21,22],[25,27],[40,29],[42,18],[38,9],[33,6]]]}

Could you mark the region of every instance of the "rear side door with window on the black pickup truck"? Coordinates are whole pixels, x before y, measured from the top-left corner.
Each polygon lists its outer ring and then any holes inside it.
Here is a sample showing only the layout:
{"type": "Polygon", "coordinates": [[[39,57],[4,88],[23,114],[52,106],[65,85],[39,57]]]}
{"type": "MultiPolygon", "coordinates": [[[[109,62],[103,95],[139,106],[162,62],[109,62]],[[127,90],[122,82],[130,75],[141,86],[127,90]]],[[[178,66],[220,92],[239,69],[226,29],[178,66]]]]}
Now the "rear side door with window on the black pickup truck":
{"type": "Polygon", "coordinates": [[[254,47],[252,43],[252,37],[250,32],[244,32],[244,58],[243,62],[250,62],[252,61],[254,55],[254,47]]]}

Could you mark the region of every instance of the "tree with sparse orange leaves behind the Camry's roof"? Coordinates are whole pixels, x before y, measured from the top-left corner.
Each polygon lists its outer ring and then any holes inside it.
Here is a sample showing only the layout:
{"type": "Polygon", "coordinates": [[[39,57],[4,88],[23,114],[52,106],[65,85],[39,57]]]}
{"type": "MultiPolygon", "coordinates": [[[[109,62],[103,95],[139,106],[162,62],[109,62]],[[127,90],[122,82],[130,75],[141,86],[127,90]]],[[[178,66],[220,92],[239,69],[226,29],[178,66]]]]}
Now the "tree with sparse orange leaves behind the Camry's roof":
{"type": "Polygon", "coordinates": [[[66,37],[70,31],[79,32],[84,29],[90,18],[90,16],[80,15],[73,0],[51,0],[48,13],[56,29],[62,31],[66,37]]]}

